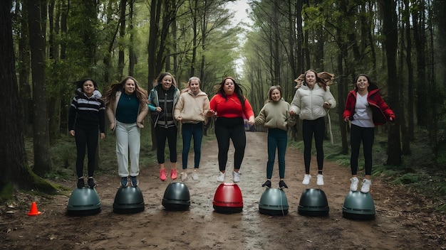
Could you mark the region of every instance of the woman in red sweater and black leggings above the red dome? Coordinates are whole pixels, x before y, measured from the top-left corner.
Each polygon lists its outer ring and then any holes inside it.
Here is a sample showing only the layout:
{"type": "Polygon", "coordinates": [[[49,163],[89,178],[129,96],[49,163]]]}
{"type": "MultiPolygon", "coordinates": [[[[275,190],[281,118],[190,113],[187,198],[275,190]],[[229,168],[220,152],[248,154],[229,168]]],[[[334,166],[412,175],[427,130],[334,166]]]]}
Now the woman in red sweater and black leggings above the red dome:
{"type": "Polygon", "coordinates": [[[217,87],[217,94],[209,102],[207,116],[217,116],[215,136],[219,148],[218,163],[220,173],[217,181],[224,182],[226,163],[229,151],[229,139],[234,145],[234,171],[232,181],[240,181],[240,166],[244,157],[247,138],[244,131],[243,116],[248,118],[249,126],[254,125],[254,112],[251,104],[244,97],[242,88],[232,77],[225,77],[217,87]]]}

